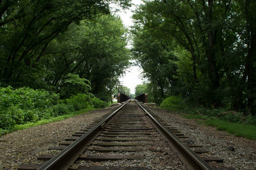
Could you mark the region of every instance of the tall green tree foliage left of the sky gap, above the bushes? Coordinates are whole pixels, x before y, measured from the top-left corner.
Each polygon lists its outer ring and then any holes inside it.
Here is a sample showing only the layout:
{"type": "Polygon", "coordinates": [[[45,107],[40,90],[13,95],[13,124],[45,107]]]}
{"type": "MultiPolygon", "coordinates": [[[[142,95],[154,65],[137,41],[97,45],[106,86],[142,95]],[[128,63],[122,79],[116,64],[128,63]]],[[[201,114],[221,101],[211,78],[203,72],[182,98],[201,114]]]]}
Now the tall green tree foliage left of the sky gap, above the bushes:
{"type": "Polygon", "coordinates": [[[127,29],[109,4],[127,8],[131,0],[6,2],[0,3],[1,86],[45,89],[61,98],[89,90],[111,100],[129,50],[127,29]]]}

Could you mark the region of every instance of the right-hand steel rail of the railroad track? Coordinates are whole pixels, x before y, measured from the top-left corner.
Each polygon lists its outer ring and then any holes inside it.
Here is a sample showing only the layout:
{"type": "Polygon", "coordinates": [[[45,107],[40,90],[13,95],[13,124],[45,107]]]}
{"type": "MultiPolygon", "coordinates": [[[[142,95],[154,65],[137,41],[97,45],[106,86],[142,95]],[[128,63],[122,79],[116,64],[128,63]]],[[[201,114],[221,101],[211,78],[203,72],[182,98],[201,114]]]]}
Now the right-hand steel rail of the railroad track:
{"type": "MultiPolygon", "coordinates": [[[[140,105],[137,100],[135,101],[138,105],[140,105]]],[[[150,114],[144,107],[141,105],[140,107],[147,113],[150,120],[152,120],[152,122],[159,128],[159,130],[161,130],[161,132],[163,132],[163,134],[168,137],[168,140],[176,146],[180,156],[182,156],[182,162],[188,166],[188,169],[213,169],[211,166],[209,166],[209,164],[207,164],[207,162],[205,162],[205,160],[200,158],[193,150],[183,144],[182,141],[180,141],[172,132],[170,132],[170,130],[159,123],[159,121],[157,121],[156,118],[154,118],[154,116],[152,116],[152,114],[150,114]]]]}

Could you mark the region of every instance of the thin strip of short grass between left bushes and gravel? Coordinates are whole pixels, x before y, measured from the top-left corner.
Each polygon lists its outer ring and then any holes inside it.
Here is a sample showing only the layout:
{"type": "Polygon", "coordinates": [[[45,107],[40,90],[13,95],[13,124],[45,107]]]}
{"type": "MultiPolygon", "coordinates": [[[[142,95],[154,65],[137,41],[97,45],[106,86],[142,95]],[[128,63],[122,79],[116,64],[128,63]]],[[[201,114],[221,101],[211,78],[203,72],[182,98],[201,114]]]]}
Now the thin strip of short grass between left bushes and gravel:
{"type": "Polygon", "coordinates": [[[86,109],[81,109],[80,111],[70,112],[70,114],[65,114],[65,115],[61,115],[61,116],[57,116],[57,117],[52,117],[52,118],[49,118],[49,119],[40,120],[40,121],[36,121],[36,122],[28,122],[28,123],[22,124],[22,125],[15,125],[15,127],[13,127],[10,130],[0,129],[0,136],[3,135],[3,134],[10,133],[10,132],[15,132],[17,130],[23,130],[23,129],[26,129],[26,128],[36,127],[38,125],[44,125],[44,124],[51,123],[51,122],[54,122],[54,121],[65,120],[67,118],[71,118],[72,116],[76,116],[77,114],[83,114],[83,113],[86,113],[88,111],[93,111],[93,110],[95,110],[95,109],[92,108],[92,107],[91,108],[89,107],[89,108],[86,108],[86,109]]]}

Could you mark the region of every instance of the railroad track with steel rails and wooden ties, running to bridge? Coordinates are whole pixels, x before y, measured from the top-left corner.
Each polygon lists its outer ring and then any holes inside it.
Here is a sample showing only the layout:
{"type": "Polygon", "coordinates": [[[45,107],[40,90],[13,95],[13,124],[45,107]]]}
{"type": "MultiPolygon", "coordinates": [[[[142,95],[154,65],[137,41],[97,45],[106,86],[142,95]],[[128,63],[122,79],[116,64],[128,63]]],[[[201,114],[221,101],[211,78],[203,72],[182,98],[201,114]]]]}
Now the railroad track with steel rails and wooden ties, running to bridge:
{"type": "Polygon", "coordinates": [[[157,119],[137,101],[129,100],[60,146],[49,148],[58,154],[41,155],[41,164],[26,164],[19,169],[212,169],[206,161],[218,162],[199,157],[198,153],[205,152],[195,150],[199,145],[182,143],[180,139],[186,136],[157,119]],[[159,158],[163,165],[159,165],[159,158]]]}

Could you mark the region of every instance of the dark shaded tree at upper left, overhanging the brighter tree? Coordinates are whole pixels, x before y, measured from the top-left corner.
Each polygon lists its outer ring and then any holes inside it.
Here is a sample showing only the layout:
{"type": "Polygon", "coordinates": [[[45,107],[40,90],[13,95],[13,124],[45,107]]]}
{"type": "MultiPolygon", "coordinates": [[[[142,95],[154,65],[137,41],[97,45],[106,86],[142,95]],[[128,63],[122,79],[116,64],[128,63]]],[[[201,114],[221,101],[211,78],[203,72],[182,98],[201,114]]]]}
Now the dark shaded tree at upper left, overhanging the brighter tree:
{"type": "MultiPolygon", "coordinates": [[[[49,43],[72,23],[108,14],[112,1],[0,1],[0,81],[5,85],[46,86],[41,60],[49,43]]],[[[129,0],[115,1],[127,8],[129,0]]]]}

